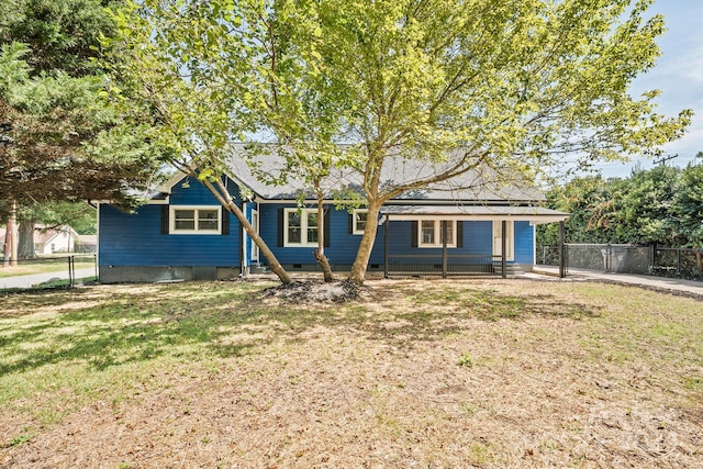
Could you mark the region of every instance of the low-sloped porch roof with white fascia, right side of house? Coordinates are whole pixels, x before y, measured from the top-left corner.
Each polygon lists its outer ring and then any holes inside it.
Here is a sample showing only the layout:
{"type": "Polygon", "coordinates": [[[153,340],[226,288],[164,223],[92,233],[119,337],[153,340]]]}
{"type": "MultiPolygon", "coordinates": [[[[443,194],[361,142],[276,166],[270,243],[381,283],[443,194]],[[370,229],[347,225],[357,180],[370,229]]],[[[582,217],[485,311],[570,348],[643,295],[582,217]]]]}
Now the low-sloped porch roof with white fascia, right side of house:
{"type": "Polygon", "coordinates": [[[388,205],[381,209],[388,220],[507,220],[527,221],[535,224],[562,222],[569,213],[543,206],[520,205],[388,205]]]}

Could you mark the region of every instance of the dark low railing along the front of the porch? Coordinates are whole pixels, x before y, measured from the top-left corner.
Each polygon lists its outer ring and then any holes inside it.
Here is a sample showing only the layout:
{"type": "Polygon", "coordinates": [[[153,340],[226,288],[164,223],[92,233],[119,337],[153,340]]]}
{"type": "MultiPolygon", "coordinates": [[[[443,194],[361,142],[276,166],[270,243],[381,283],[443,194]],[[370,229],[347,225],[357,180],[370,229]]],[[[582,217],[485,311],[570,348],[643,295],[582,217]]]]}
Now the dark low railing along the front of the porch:
{"type": "Polygon", "coordinates": [[[397,254],[388,255],[384,273],[422,276],[503,277],[502,256],[472,254],[397,254]]]}

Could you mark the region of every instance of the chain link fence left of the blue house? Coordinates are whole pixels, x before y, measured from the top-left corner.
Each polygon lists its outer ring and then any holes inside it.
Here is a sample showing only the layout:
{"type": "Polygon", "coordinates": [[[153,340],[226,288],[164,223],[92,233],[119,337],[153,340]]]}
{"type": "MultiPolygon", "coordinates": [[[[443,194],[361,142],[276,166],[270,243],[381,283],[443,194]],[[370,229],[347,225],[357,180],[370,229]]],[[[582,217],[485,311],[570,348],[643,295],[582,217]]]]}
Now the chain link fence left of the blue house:
{"type": "Polygon", "coordinates": [[[0,292],[71,288],[97,279],[94,254],[42,256],[14,261],[0,257],[0,292]]]}

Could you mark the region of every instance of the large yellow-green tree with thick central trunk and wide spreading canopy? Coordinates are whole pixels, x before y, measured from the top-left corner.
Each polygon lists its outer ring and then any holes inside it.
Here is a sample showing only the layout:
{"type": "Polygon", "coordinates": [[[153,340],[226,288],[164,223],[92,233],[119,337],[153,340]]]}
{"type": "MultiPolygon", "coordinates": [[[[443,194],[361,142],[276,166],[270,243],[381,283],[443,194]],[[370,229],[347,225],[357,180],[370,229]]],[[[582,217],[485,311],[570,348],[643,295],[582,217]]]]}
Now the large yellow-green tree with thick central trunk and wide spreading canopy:
{"type": "MultiPolygon", "coordinates": [[[[388,200],[473,169],[514,183],[558,168],[565,155],[588,165],[656,153],[679,137],[690,111],[666,118],[655,112],[657,91],[628,91],[659,55],[663,20],[646,19],[650,4],[152,0],[135,8],[152,29],[134,47],[156,45],[156,62],[168,64],[155,94],[179,78],[228,103],[221,118],[234,129],[220,138],[257,131],[322,149],[292,160],[309,181],[324,170],[325,148],[350,144],[339,164],[358,172],[376,220],[388,200]],[[434,171],[389,185],[381,175],[398,157],[434,171]]],[[[125,24],[134,32],[144,23],[125,24]]],[[[367,223],[352,281],[365,279],[377,230],[367,223]]]]}

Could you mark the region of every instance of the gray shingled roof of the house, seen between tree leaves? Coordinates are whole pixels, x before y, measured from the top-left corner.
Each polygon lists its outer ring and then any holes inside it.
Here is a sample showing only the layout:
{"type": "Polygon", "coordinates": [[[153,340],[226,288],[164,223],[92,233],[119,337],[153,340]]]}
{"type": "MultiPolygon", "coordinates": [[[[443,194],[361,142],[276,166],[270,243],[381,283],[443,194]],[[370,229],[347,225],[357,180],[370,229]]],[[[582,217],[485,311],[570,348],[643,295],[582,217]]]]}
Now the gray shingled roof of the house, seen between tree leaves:
{"type": "MultiPolygon", "coordinates": [[[[275,145],[265,146],[267,155],[255,157],[258,171],[267,175],[278,175],[284,161],[277,153],[275,145]]],[[[257,178],[247,164],[245,144],[235,144],[230,158],[231,177],[243,182],[259,198],[265,200],[295,200],[304,185],[300,180],[290,179],[280,186],[268,186],[257,178]]],[[[381,175],[381,187],[395,185],[400,181],[416,180],[437,174],[447,164],[433,164],[427,160],[402,158],[400,156],[387,159],[381,175]]],[[[334,169],[323,181],[325,198],[332,199],[341,189],[353,189],[361,192],[361,175],[357,171],[334,169]]],[[[312,193],[305,198],[312,199],[312,193]]],[[[405,192],[394,200],[413,201],[454,201],[454,202],[498,202],[510,201],[518,203],[544,201],[544,193],[531,185],[506,183],[493,171],[468,171],[454,179],[432,185],[422,189],[405,192]]]]}

